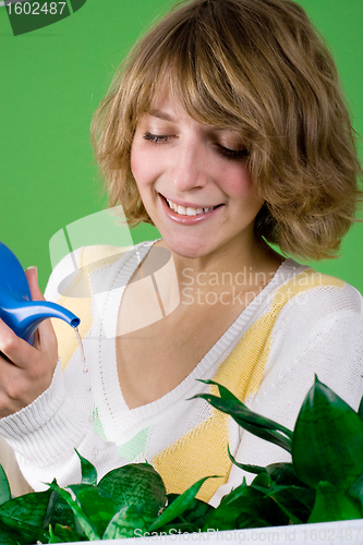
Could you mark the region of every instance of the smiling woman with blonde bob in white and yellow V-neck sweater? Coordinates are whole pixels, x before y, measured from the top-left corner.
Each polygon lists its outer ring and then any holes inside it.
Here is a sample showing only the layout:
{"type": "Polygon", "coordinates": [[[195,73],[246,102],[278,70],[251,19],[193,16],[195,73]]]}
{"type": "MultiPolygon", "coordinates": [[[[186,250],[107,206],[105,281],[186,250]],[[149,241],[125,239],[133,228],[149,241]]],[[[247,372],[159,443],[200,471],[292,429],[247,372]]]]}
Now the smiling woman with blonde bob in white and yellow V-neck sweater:
{"type": "Polygon", "coordinates": [[[246,473],[227,445],[242,463],[289,455],[191,400],[215,391],[197,379],[290,428],[314,374],[354,408],[362,396],[362,296],[286,255],[331,256],[361,196],[334,61],[290,0],[182,2],[118,71],[93,142],[110,204],[161,238],[57,266],[46,296],[81,317],[89,371],[55,324],[52,383],[1,434],[37,488],[78,480],[76,448],[99,475],[146,459],[169,493],[220,475],[198,493],[217,505],[246,473]]]}

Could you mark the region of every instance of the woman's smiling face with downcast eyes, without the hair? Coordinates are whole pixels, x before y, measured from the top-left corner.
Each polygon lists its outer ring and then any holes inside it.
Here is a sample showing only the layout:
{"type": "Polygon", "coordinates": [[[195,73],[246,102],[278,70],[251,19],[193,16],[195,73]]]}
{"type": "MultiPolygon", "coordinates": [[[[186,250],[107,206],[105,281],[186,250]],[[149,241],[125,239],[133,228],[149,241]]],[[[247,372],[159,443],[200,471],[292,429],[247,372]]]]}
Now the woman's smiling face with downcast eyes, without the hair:
{"type": "MultiPolygon", "coordinates": [[[[172,252],[202,257],[254,241],[256,197],[241,136],[192,119],[165,90],[136,126],[131,169],[145,208],[172,252]]],[[[247,246],[245,246],[247,247],[247,246]]]]}

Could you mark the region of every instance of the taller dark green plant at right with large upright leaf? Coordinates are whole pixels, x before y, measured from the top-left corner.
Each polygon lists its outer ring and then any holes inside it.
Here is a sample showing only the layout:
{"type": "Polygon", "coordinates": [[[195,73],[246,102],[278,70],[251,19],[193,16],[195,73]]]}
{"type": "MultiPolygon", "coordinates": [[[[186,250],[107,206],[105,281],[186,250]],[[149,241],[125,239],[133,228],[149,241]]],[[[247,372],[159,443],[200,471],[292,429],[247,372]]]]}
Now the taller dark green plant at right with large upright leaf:
{"type": "Polygon", "coordinates": [[[363,402],[358,413],[315,378],[301,407],[295,427],[286,427],[250,411],[227,388],[213,380],[220,397],[198,395],[213,407],[232,416],[244,429],[288,450],[292,463],[267,468],[241,464],[257,474],[225,496],[205,521],[205,528],[229,530],[271,525],[267,502],[279,512],[273,524],[327,522],[363,517],[363,402]],[[244,498],[254,494],[258,510],[251,511],[244,498]],[[259,493],[259,495],[258,495],[259,493]],[[270,504],[273,505],[273,504],[270,504]],[[258,513],[258,516],[257,516],[258,513]]]}

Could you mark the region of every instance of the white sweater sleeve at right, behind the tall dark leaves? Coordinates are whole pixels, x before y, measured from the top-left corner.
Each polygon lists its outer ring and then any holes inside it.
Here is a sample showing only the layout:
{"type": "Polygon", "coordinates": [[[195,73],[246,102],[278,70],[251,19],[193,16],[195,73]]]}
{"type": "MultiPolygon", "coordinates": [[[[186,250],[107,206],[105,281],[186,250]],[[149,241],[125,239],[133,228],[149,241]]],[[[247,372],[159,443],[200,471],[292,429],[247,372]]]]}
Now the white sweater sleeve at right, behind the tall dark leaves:
{"type": "MultiPolygon", "coordinates": [[[[363,395],[362,296],[346,284],[341,292],[335,293],[334,306],[329,307],[327,299],[323,290],[307,293],[283,310],[273,334],[262,384],[253,399],[246,400],[251,410],[291,431],[315,374],[354,410],[363,395]]],[[[255,437],[234,422],[231,426],[232,433],[240,436],[234,452],[237,461],[261,467],[291,461],[282,448],[255,437]]],[[[228,482],[210,504],[217,506],[243,477],[251,483],[254,476],[232,465],[228,482]]]]}

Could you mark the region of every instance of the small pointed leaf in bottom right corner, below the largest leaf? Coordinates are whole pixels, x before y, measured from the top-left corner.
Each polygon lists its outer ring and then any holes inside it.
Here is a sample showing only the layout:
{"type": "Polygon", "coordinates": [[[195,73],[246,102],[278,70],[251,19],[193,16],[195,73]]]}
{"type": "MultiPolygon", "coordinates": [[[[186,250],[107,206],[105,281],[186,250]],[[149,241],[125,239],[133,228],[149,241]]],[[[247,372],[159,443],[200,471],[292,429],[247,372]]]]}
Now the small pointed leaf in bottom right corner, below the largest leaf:
{"type": "Polygon", "coordinates": [[[362,512],[343,491],[322,482],[316,489],[316,500],[307,522],[361,519],[362,512]]]}

